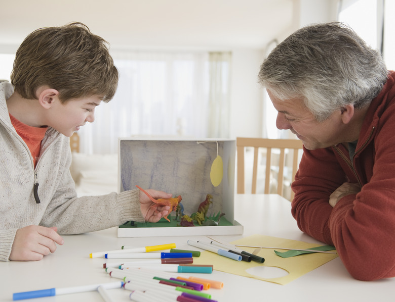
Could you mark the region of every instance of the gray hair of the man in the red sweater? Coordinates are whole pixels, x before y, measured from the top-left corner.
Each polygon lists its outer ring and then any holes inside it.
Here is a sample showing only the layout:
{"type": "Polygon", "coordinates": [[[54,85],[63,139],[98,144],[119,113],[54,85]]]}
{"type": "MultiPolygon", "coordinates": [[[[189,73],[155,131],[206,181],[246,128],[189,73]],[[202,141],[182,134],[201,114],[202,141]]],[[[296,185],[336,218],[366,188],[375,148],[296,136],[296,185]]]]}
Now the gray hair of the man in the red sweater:
{"type": "Polygon", "coordinates": [[[322,122],[352,104],[361,109],[381,91],[388,71],[381,54],[343,23],[303,27],[268,55],[258,81],[280,99],[302,97],[322,122]]]}

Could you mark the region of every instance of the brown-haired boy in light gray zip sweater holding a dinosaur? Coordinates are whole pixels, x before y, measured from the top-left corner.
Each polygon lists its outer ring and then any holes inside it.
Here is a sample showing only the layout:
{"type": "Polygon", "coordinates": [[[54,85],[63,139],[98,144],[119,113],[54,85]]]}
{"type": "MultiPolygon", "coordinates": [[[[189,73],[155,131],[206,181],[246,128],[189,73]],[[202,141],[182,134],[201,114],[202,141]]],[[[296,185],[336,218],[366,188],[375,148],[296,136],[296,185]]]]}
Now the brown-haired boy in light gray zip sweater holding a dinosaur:
{"type": "Polygon", "coordinates": [[[11,84],[0,83],[2,261],[41,260],[64,243],[59,234],[157,222],[169,213],[151,209],[138,189],[76,197],[68,137],[115,93],[118,72],[106,44],[82,23],[38,29],[16,53],[11,84]]]}

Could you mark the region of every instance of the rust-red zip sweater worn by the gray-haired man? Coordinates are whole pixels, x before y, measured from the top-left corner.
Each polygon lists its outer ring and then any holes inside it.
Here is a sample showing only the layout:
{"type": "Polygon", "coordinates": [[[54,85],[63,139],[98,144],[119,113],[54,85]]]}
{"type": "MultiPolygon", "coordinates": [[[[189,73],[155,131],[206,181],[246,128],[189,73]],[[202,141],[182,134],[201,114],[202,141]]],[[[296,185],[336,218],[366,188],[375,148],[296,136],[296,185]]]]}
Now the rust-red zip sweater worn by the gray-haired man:
{"type": "Polygon", "coordinates": [[[395,72],[369,106],[352,162],[342,144],[304,149],[292,188],[299,228],[335,245],[354,278],[395,276],[395,72]],[[329,196],[344,182],[362,189],[332,208],[329,196]]]}

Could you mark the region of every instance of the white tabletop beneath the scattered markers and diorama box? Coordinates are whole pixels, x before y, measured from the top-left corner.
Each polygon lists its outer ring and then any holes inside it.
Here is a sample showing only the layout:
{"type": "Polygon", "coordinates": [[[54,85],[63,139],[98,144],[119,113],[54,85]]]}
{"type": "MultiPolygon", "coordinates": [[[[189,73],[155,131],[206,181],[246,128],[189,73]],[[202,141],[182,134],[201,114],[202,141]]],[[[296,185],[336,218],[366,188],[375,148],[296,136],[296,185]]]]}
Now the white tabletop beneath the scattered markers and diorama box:
{"type": "MultiPolygon", "coordinates": [[[[235,219],[244,226],[244,235],[263,234],[320,243],[303,234],[292,218],[291,204],[279,195],[238,194],[235,219]]],[[[233,241],[243,236],[216,236],[233,241]]],[[[90,259],[94,251],[117,249],[122,245],[147,246],[175,242],[177,248],[191,249],[190,237],[117,238],[116,228],[81,235],[63,236],[65,243],[56,252],[37,262],[0,262],[0,301],[11,301],[14,292],[69,287],[117,281],[103,270],[103,259],[90,259]]],[[[204,237],[194,237],[201,238],[204,237]]],[[[193,275],[193,274],[187,274],[193,275]]],[[[395,278],[363,282],[353,279],[339,258],[288,283],[279,285],[257,279],[214,271],[195,276],[220,280],[223,289],[209,289],[212,299],[229,301],[379,301],[393,299],[395,278]]],[[[108,290],[116,301],[130,301],[130,292],[108,290]]],[[[85,292],[25,301],[102,301],[98,292],[85,292]]]]}

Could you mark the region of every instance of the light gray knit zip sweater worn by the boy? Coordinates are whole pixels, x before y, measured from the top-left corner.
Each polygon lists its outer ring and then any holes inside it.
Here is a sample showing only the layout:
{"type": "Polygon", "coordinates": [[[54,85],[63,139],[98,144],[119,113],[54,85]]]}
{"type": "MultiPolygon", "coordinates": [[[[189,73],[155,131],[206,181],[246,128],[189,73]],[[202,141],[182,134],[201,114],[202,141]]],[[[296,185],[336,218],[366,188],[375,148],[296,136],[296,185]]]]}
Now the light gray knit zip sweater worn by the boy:
{"type": "Polygon", "coordinates": [[[10,83],[0,83],[0,261],[9,260],[17,229],[28,225],[78,234],[144,221],[137,189],[76,197],[69,138],[53,128],[46,132],[34,169],[30,151],[10,121],[6,99],[13,92],[10,83]],[[40,203],[34,198],[35,183],[40,203]]]}

